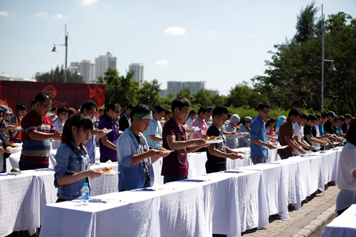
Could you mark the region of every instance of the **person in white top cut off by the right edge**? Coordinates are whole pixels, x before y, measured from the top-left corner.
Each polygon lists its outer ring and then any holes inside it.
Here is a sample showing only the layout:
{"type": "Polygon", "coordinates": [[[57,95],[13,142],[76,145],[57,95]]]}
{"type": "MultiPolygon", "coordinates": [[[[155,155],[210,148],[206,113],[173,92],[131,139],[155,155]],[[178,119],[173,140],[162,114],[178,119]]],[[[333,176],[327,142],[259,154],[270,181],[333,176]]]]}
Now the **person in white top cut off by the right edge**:
{"type": "Polygon", "coordinates": [[[356,204],[356,123],[353,122],[346,134],[347,143],[342,148],[337,166],[336,211],[340,215],[352,204],[356,204]]]}

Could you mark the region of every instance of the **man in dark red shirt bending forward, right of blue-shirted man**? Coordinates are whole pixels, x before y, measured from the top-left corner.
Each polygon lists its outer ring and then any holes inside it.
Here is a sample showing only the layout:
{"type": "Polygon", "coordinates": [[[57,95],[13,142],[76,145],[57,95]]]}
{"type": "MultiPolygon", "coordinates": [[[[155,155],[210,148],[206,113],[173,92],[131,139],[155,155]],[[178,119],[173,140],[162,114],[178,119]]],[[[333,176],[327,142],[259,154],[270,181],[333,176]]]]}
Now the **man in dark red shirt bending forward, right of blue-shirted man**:
{"type": "Polygon", "coordinates": [[[281,123],[278,132],[278,141],[281,146],[288,146],[284,149],[278,149],[278,154],[281,159],[288,159],[295,156],[295,150],[301,154],[305,153],[303,147],[295,142],[293,125],[300,120],[300,110],[293,108],[289,111],[288,117],[281,123]]]}

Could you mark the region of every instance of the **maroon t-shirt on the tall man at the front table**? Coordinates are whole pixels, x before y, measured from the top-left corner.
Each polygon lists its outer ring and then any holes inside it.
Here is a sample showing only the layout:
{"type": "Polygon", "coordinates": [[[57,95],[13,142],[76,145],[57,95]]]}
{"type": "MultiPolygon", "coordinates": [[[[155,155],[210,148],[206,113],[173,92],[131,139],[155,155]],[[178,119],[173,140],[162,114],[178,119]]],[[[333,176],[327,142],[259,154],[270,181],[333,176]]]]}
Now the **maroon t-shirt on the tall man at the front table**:
{"type": "MultiPolygon", "coordinates": [[[[170,149],[167,143],[167,136],[174,135],[176,141],[186,141],[184,126],[179,124],[172,118],[168,120],[163,127],[162,137],[163,137],[163,147],[165,149],[170,149]]],[[[175,176],[175,177],[188,177],[188,157],[187,149],[178,149],[174,152],[169,153],[167,157],[163,158],[162,164],[162,176],[175,176]]]]}

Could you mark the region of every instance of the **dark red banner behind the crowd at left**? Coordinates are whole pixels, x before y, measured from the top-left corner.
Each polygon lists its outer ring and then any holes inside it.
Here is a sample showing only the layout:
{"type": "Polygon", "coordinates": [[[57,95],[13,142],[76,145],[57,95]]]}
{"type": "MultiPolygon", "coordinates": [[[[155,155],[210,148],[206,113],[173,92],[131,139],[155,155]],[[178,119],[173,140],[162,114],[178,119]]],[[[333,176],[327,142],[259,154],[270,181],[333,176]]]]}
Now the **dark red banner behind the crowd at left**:
{"type": "Polygon", "coordinates": [[[98,108],[105,106],[105,85],[83,83],[31,83],[0,80],[0,105],[11,107],[16,112],[16,104],[26,102],[27,108],[38,93],[51,93],[52,107],[79,108],[86,100],[93,100],[98,108]]]}

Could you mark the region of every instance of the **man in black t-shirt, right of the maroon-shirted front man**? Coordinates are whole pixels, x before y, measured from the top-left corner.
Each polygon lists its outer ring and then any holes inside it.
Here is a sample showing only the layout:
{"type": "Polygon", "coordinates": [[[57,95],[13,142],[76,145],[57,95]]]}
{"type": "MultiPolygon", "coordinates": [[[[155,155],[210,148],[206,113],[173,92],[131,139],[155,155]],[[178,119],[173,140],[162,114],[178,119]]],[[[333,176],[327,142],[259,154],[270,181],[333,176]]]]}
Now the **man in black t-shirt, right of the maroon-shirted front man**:
{"type": "Polygon", "coordinates": [[[208,157],[205,163],[206,174],[226,170],[226,158],[242,159],[239,153],[244,154],[244,152],[235,152],[225,145],[224,132],[220,130],[219,127],[224,125],[227,114],[228,110],[222,105],[216,106],[213,110],[213,122],[206,132],[206,135],[209,137],[218,137],[218,139],[222,139],[223,142],[209,144],[208,149],[206,149],[206,157],[208,157]]]}

